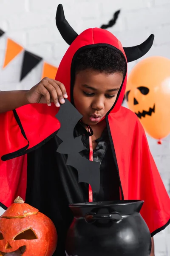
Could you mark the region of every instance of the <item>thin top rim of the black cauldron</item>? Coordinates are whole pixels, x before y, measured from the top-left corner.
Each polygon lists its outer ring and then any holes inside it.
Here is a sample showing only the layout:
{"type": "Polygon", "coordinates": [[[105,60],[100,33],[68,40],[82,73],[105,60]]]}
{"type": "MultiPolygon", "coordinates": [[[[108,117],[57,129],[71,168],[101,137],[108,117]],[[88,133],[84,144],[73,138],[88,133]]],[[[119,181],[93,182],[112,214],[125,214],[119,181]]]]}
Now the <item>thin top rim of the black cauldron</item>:
{"type": "Polygon", "coordinates": [[[143,204],[143,200],[119,200],[119,201],[100,201],[100,202],[85,202],[78,204],[69,204],[69,207],[109,207],[109,206],[123,206],[123,205],[132,205],[136,203],[143,204]]]}

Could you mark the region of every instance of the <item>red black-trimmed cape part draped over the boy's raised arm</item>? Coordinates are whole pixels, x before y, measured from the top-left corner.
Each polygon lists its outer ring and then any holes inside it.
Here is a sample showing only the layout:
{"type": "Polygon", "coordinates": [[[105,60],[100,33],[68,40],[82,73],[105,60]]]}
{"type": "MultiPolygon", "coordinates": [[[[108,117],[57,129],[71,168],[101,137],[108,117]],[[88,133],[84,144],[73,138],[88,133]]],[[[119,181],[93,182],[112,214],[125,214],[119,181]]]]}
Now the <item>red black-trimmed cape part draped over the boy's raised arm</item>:
{"type": "Polygon", "coordinates": [[[3,161],[23,155],[45,143],[60,128],[54,104],[29,104],[0,114],[0,157],[3,161]]]}

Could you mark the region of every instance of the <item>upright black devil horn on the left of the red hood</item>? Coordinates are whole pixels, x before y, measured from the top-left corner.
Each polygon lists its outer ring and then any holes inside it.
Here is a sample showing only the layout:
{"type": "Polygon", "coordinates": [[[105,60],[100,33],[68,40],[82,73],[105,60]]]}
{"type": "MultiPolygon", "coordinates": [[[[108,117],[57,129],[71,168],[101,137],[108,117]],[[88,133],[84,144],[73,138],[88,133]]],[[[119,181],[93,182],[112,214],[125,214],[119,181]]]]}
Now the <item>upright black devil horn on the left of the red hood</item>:
{"type": "Polygon", "coordinates": [[[74,39],[77,38],[78,34],[74,31],[74,29],[72,29],[72,27],[65,19],[62,4],[59,4],[57,7],[56,25],[62,38],[67,44],[71,45],[74,39]]]}

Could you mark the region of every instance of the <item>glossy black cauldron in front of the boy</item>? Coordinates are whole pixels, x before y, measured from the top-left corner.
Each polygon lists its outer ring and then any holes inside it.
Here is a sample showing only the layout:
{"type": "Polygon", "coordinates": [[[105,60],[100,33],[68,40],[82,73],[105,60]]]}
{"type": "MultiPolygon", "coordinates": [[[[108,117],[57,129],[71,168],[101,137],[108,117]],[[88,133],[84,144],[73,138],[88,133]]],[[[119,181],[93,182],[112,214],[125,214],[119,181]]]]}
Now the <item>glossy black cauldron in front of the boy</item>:
{"type": "Polygon", "coordinates": [[[150,231],[140,215],[144,201],[71,204],[68,256],[149,256],[150,231]]]}

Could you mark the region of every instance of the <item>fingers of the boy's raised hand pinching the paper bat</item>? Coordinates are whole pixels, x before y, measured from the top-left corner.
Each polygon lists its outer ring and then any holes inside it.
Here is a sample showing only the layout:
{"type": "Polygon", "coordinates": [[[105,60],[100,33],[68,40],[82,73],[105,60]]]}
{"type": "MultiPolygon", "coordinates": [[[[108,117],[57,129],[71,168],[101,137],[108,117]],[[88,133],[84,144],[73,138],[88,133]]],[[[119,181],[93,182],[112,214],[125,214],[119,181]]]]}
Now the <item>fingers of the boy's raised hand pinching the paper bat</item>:
{"type": "Polygon", "coordinates": [[[43,90],[43,93],[45,93],[44,97],[47,101],[48,106],[51,105],[51,102],[54,102],[56,107],[59,107],[60,104],[65,103],[65,99],[68,98],[65,86],[59,81],[56,81],[54,79],[45,78],[43,79],[43,87],[48,91],[48,93],[43,90]],[[50,98],[50,99],[49,99],[50,98]],[[64,99],[65,98],[65,99],[64,99]],[[50,102],[49,102],[50,100],[50,102]]]}

